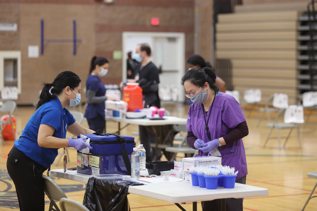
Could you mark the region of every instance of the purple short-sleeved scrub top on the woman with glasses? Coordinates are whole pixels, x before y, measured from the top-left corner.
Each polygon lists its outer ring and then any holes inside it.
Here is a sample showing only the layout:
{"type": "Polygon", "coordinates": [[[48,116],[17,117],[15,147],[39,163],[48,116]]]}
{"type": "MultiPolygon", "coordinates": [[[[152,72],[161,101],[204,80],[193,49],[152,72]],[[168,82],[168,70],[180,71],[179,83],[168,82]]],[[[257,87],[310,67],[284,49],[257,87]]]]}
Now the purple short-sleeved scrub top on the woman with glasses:
{"type": "MultiPolygon", "coordinates": [[[[209,140],[206,134],[203,115],[205,115],[207,121],[209,111],[206,115],[201,104],[193,103],[189,108],[187,118],[186,130],[192,131],[195,137],[202,139],[205,143],[209,140]]],[[[236,99],[229,94],[218,92],[208,122],[211,140],[223,137],[232,131],[236,125],[244,121],[245,117],[243,111],[236,99]]],[[[218,147],[218,150],[222,157],[221,164],[235,167],[235,170],[239,171],[236,179],[240,179],[248,174],[247,160],[242,139],[231,144],[220,146],[218,147]]],[[[204,153],[199,150],[198,156],[207,156],[208,153],[209,152],[204,153]]]]}

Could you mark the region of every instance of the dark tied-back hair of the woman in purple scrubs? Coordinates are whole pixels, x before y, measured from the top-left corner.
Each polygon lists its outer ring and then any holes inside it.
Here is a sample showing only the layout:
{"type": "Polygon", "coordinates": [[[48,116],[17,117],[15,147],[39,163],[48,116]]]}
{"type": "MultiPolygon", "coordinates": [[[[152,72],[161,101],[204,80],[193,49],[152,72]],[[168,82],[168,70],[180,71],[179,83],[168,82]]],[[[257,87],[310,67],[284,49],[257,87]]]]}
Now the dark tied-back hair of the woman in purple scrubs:
{"type": "Polygon", "coordinates": [[[182,78],[181,84],[184,86],[184,82],[189,81],[195,86],[202,87],[207,82],[212,90],[217,93],[219,88],[215,85],[216,73],[211,67],[192,68],[182,78]]]}

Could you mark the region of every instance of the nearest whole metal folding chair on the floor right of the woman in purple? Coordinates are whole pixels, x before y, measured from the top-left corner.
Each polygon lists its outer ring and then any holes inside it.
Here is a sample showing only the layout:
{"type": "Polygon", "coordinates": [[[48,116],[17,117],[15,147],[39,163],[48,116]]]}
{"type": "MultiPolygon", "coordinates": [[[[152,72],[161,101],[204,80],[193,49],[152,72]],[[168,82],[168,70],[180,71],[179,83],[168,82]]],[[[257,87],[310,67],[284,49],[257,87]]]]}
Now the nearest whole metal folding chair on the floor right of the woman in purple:
{"type": "Polygon", "coordinates": [[[286,140],[283,144],[283,147],[285,147],[287,141],[288,141],[288,138],[290,137],[291,133],[292,133],[292,130],[294,128],[297,129],[297,135],[298,135],[298,143],[299,143],[299,148],[301,148],[301,137],[300,137],[300,131],[299,131],[299,124],[298,123],[282,123],[282,122],[278,122],[278,119],[285,114],[285,108],[283,109],[280,109],[279,112],[277,113],[277,116],[275,118],[275,121],[273,123],[268,123],[267,126],[270,127],[270,131],[268,132],[268,137],[266,138],[266,141],[263,145],[263,147],[266,146],[266,144],[268,143],[268,139],[270,138],[273,138],[273,137],[270,137],[272,131],[274,128],[276,128],[276,131],[277,131],[277,139],[278,139],[278,144],[279,144],[279,148],[281,148],[281,136],[280,136],[280,129],[290,129],[290,131],[288,132],[288,135],[286,137],[286,140]]]}

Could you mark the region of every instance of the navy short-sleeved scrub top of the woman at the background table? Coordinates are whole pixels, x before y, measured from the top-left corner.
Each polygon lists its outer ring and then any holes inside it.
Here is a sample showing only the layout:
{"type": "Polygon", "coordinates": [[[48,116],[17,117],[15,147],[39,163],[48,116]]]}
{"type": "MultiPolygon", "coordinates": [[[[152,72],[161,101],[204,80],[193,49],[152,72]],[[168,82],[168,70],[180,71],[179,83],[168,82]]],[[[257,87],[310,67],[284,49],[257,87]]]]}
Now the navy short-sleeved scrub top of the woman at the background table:
{"type": "MultiPolygon", "coordinates": [[[[101,82],[100,78],[96,75],[89,75],[86,81],[86,90],[96,92],[96,96],[104,96],[106,94],[105,85],[101,82]]],[[[86,91],[87,92],[87,91],[86,91]]],[[[89,103],[85,111],[87,119],[97,118],[101,116],[105,119],[105,102],[89,103]]]]}

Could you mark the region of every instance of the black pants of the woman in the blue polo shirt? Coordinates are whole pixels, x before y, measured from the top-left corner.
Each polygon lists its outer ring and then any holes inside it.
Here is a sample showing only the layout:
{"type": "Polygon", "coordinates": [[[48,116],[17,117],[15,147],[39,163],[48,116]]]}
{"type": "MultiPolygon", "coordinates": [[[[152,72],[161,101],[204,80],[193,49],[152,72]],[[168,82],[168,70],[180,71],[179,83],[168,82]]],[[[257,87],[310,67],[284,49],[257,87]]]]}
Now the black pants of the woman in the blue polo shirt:
{"type": "Polygon", "coordinates": [[[44,211],[43,166],[14,146],[9,152],[7,170],[16,187],[20,211],[44,211]]]}

